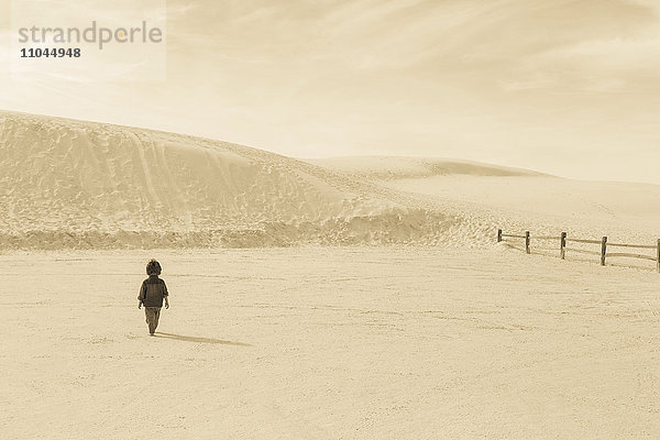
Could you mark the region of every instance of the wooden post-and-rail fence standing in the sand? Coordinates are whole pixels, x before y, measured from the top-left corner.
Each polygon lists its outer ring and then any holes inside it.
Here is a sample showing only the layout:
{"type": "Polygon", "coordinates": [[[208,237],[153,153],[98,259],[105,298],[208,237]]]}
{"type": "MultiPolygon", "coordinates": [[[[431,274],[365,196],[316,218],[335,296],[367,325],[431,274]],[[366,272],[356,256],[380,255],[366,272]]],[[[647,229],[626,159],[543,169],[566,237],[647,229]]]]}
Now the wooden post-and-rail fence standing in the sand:
{"type": "MultiPolygon", "coordinates": [[[[499,243],[504,239],[521,239],[525,240],[525,251],[529,254],[531,253],[531,234],[529,231],[525,231],[525,234],[508,234],[504,233],[502,229],[497,230],[497,242],[499,243]]],[[[566,252],[574,252],[580,254],[587,255],[596,255],[601,257],[601,265],[604,266],[606,264],[607,258],[613,257],[627,257],[627,258],[640,258],[640,260],[650,260],[656,262],[656,268],[660,272],[660,239],[658,239],[657,244],[646,245],[646,244],[627,244],[627,243],[608,243],[607,237],[603,237],[601,240],[583,240],[583,239],[570,239],[565,232],[562,232],[561,235],[538,235],[534,238],[535,240],[557,240],[559,243],[559,257],[561,260],[565,260],[566,252]],[[586,249],[578,249],[578,248],[569,248],[570,243],[579,243],[579,244],[595,244],[600,245],[600,251],[592,251],[586,249]],[[641,253],[630,252],[610,252],[610,249],[623,248],[630,250],[654,250],[656,256],[645,255],[641,253]]]]}

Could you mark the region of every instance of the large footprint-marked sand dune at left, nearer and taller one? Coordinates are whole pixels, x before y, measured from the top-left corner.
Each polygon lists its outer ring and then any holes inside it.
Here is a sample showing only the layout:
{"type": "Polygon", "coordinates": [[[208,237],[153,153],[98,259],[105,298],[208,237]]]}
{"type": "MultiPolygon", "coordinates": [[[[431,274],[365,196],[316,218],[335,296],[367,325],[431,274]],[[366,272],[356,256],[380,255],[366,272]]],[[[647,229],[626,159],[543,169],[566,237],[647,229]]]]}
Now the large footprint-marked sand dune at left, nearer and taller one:
{"type": "Polygon", "coordinates": [[[12,112],[0,112],[0,249],[479,244],[492,229],[265,151],[12,112]]]}

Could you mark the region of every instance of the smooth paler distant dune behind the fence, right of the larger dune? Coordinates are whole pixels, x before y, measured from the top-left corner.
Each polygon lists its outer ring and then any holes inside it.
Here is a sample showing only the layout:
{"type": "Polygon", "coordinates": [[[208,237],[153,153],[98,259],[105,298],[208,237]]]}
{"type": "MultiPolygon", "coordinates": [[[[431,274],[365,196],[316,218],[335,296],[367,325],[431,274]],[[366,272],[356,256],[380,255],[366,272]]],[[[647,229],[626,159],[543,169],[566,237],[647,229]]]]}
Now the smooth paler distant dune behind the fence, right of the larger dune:
{"type": "Polygon", "coordinates": [[[574,180],[442,158],[339,157],[310,163],[426,197],[508,231],[568,231],[573,237],[608,235],[645,244],[660,238],[657,185],[574,180]]]}

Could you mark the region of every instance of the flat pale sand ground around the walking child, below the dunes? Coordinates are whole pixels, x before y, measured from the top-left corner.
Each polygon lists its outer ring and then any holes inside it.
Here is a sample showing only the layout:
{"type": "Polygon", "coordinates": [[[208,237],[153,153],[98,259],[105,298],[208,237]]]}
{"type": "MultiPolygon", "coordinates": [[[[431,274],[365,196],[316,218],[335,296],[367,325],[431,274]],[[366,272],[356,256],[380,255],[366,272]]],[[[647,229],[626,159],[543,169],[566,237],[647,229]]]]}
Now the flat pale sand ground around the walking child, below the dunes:
{"type": "Polygon", "coordinates": [[[499,246],[8,254],[0,433],[657,438],[657,280],[499,246]]]}

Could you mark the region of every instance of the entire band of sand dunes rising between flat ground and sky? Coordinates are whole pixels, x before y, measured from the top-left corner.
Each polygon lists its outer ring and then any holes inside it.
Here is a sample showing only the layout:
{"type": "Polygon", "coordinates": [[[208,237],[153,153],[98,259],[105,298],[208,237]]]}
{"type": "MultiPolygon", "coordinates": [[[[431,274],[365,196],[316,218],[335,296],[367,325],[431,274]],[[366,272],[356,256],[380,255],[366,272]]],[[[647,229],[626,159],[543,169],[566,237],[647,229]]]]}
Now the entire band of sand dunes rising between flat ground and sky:
{"type": "Polygon", "coordinates": [[[497,228],[649,242],[660,186],[444,158],[300,161],[0,112],[0,249],[481,246],[497,228]]]}

